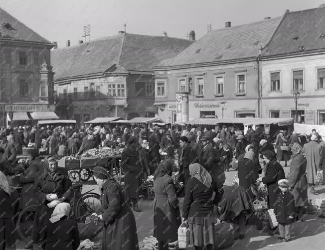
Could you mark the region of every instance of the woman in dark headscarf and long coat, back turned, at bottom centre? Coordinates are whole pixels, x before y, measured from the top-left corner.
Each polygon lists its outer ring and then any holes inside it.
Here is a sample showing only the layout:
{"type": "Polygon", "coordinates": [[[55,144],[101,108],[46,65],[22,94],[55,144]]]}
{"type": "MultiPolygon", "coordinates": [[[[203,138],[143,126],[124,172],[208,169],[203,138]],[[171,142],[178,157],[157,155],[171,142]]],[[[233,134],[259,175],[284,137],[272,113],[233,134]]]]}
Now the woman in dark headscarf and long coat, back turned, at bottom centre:
{"type": "Polygon", "coordinates": [[[163,160],[154,177],[154,237],[159,250],[168,250],[168,242],[177,241],[180,213],[174,182],[171,178],[174,161],[163,160]]]}

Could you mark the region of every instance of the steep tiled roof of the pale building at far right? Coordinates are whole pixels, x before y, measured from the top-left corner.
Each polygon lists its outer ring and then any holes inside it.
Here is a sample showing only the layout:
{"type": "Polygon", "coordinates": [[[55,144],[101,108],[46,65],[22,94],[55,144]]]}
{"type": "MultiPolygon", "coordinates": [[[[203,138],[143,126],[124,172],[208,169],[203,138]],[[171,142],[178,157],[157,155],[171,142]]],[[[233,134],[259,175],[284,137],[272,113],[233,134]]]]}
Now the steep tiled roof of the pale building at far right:
{"type": "Polygon", "coordinates": [[[306,53],[324,48],[325,7],[320,7],[288,12],[262,56],[306,53]],[[299,49],[302,46],[304,49],[299,49]]]}

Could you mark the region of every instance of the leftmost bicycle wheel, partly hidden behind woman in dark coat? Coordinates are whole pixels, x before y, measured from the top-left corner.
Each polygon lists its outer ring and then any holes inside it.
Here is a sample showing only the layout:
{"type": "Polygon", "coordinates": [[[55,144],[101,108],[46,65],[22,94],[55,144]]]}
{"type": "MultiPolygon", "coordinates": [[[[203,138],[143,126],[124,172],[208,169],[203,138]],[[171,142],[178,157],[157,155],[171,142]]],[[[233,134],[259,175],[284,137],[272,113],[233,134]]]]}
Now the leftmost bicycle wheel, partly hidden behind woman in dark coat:
{"type": "Polygon", "coordinates": [[[16,230],[21,240],[28,243],[33,229],[34,216],[37,205],[31,205],[23,209],[17,218],[16,230]]]}

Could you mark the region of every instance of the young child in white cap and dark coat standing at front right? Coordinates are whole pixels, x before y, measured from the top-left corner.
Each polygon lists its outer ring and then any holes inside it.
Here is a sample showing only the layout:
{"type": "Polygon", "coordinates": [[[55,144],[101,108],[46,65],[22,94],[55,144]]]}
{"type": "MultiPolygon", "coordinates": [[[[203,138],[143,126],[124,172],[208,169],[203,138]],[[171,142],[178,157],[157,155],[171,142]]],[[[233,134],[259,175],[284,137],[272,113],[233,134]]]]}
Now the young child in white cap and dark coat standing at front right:
{"type": "Polygon", "coordinates": [[[295,198],[289,192],[288,180],[279,180],[278,185],[281,192],[276,199],[274,214],[279,223],[280,240],[289,242],[291,240],[291,224],[294,222],[295,215],[295,198]]]}

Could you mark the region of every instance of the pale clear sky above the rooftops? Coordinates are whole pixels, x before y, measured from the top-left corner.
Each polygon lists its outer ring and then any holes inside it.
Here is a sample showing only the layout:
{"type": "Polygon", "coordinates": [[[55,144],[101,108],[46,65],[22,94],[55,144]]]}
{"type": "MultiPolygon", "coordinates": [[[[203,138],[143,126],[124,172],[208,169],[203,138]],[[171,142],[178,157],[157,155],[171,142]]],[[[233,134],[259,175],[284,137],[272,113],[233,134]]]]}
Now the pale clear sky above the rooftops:
{"type": "Polygon", "coordinates": [[[297,11],[318,7],[325,0],[0,0],[0,7],[50,41],[64,47],[76,45],[84,25],[90,24],[90,38],[133,34],[196,39],[212,29],[277,17],[286,9],[297,11]]]}

